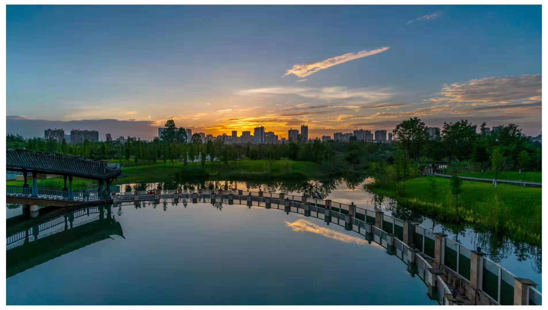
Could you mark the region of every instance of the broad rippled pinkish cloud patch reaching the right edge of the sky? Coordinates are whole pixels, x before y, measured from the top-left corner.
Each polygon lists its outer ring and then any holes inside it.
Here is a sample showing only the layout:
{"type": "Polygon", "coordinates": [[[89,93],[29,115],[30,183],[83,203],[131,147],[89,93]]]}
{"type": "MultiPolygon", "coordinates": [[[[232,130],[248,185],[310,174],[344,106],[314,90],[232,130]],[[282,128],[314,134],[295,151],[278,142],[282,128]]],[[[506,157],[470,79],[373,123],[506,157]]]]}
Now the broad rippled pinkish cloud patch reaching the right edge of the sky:
{"type": "Polygon", "coordinates": [[[523,100],[541,100],[542,76],[488,77],[464,83],[444,84],[430,102],[471,102],[500,104],[523,100]]]}

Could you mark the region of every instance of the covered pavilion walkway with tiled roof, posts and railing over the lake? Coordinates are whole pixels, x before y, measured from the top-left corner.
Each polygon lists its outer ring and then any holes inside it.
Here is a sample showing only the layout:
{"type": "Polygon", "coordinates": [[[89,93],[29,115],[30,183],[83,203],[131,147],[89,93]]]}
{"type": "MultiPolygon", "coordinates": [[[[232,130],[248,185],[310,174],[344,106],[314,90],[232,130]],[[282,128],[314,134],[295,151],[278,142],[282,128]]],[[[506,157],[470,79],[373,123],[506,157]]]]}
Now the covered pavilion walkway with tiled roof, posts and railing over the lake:
{"type": "Polygon", "coordinates": [[[111,202],[112,181],[122,173],[121,168],[105,161],[9,148],[6,170],[22,175],[23,179],[22,186],[6,185],[7,202],[23,204],[30,212],[38,210],[39,204],[67,207],[111,202]],[[38,176],[62,177],[64,188],[39,187],[38,176]],[[73,190],[73,178],[93,180],[98,187],[73,190]]]}

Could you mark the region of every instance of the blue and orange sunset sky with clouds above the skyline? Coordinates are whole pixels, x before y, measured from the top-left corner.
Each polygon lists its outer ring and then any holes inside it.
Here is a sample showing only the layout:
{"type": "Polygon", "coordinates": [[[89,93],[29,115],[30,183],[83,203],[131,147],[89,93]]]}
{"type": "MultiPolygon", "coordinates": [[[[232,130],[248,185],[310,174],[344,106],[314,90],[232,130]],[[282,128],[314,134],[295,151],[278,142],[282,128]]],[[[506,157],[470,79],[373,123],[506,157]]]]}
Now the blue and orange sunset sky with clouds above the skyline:
{"type": "Polygon", "coordinates": [[[151,139],[389,132],[468,119],[541,132],[541,7],[7,8],[7,132],[151,139]],[[300,129],[300,128],[299,128],[300,129]]]}

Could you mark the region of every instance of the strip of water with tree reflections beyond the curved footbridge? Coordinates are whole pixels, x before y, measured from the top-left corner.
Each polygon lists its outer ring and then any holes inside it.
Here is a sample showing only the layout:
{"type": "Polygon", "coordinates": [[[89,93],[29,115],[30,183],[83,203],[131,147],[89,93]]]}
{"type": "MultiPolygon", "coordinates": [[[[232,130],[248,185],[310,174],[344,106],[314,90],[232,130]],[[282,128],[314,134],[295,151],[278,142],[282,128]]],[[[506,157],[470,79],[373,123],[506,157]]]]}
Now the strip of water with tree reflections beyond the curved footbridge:
{"type": "MultiPolygon", "coordinates": [[[[389,211],[393,217],[402,220],[409,220],[414,224],[421,224],[425,220],[431,220],[432,226],[428,227],[432,231],[439,227],[442,232],[451,232],[452,239],[459,242],[459,238],[470,238],[473,247],[481,247],[489,256],[489,259],[500,262],[503,259],[509,258],[514,254],[518,261],[530,260],[532,268],[536,273],[541,273],[542,267],[542,250],[533,245],[516,242],[505,236],[498,235],[489,231],[481,231],[475,227],[456,225],[451,223],[440,223],[436,219],[430,219],[424,214],[410,209],[397,201],[376,194],[368,190],[367,183],[371,179],[366,179],[365,176],[359,173],[347,173],[345,178],[338,179],[317,179],[306,180],[302,182],[236,182],[228,180],[197,180],[184,182],[163,182],[163,183],[136,183],[131,184],[133,190],[144,191],[148,189],[165,189],[165,190],[238,190],[238,184],[245,183],[247,191],[264,191],[264,192],[281,192],[288,194],[295,192],[307,197],[316,199],[327,198],[336,187],[345,184],[349,189],[356,189],[359,185],[363,185],[363,190],[369,194],[370,204],[376,211],[389,211]]],[[[127,188],[127,186],[126,186],[127,188]]],[[[150,202],[149,202],[150,203],[150,202]]],[[[150,204],[149,204],[150,205],[150,204]]],[[[184,207],[187,207],[187,202],[183,202],[184,207]]],[[[152,202],[153,208],[156,208],[156,203],[152,202]]],[[[140,208],[140,204],[136,204],[135,208],[140,208]]],[[[144,207],[144,203],[143,203],[144,207]]],[[[222,210],[222,203],[213,203],[213,207],[222,210]]],[[[167,203],[163,203],[164,211],[167,210],[167,203]]],[[[118,209],[118,216],[122,215],[121,208],[118,209]]],[[[438,230],[438,231],[439,231],[438,230]]]]}

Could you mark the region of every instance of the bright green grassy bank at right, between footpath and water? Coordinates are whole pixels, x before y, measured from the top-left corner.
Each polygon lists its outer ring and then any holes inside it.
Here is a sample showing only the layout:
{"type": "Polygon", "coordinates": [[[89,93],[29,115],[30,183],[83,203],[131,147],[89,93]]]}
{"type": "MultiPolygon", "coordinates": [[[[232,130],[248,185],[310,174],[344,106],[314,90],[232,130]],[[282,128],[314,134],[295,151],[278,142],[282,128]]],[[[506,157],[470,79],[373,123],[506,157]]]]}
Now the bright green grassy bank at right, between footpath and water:
{"type": "MultiPolygon", "coordinates": [[[[405,194],[395,185],[379,182],[368,185],[374,192],[394,198],[398,203],[418,210],[441,221],[456,223],[455,196],[450,192],[448,178],[424,177],[406,181],[405,194]],[[429,179],[435,178],[437,193],[432,198],[429,179]]],[[[517,241],[541,246],[542,189],[464,181],[459,194],[460,223],[476,225],[479,229],[503,233],[517,241]]]]}

